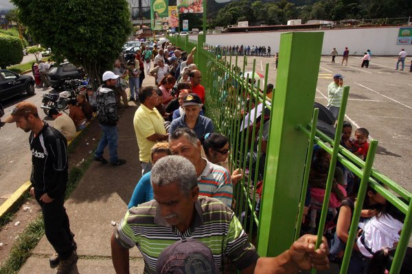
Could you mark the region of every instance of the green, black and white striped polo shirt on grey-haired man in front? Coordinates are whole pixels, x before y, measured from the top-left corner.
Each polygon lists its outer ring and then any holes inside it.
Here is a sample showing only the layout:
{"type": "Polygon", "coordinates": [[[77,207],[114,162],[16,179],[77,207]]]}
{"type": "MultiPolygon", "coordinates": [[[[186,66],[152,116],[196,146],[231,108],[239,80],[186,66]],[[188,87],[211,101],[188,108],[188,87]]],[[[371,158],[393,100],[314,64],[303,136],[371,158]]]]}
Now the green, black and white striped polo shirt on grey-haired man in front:
{"type": "Polygon", "coordinates": [[[161,251],[177,240],[188,238],[199,240],[211,249],[220,273],[225,270],[226,258],[239,270],[258,260],[255,247],[248,242],[247,234],[231,209],[205,196],[199,196],[194,209],[192,224],[181,233],[161,216],[157,201],[132,207],[117,227],[115,239],[128,249],[137,246],[143,255],[144,273],[147,274],[156,272],[161,251]]]}

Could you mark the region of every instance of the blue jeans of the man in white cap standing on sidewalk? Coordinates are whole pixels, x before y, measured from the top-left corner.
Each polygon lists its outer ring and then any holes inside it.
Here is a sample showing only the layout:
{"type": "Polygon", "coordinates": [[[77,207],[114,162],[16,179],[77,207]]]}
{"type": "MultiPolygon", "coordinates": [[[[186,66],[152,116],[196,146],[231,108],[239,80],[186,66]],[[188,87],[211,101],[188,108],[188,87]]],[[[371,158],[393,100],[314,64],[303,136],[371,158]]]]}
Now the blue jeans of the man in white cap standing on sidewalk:
{"type": "Polygon", "coordinates": [[[119,159],[117,157],[117,139],[119,133],[117,132],[117,126],[106,126],[99,124],[102,128],[102,138],[100,139],[98,150],[95,152],[95,157],[103,157],[104,148],[108,145],[108,153],[110,154],[110,162],[115,163],[119,159]]]}

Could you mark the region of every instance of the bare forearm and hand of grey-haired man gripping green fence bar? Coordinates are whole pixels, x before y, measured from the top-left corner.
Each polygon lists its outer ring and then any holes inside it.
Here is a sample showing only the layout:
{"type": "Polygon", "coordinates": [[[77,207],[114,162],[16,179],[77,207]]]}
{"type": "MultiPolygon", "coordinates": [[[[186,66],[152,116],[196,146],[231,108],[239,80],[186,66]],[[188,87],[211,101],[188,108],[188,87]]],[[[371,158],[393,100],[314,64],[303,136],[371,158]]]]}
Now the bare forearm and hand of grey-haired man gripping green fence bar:
{"type": "Polygon", "coordinates": [[[329,249],[326,239],[322,239],[321,246],[317,250],[314,249],[316,240],[317,236],[304,235],[279,256],[259,258],[255,274],[296,273],[301,269],[308,270],[312,266],[319,270],[329,269],[329,249]]]}

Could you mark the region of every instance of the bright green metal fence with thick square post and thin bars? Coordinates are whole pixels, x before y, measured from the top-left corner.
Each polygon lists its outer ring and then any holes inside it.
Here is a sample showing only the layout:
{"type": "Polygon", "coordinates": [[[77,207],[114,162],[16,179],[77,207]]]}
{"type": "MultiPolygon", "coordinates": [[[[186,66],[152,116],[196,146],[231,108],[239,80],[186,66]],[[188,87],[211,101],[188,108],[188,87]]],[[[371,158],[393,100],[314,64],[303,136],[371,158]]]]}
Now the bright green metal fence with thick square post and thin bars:
{"type": "Polygon", "coordinates": [[[247,56],[227,56],[219,47],[205,44],[205,36],[198,41],[190,41],[188,36],[170,40],[187,52],[196,47],[195,63],[206,89],[205,114],[214,121],[216,131],[229,137],[231,170],[241,168],[244,173],[235,187],[235,212],[260,255],[278,255],[299,238],[312,151],[317,144],[331,155],[317,246],[323,236],[334,170],[340,162],[361,179],[341,273],[347,273],[368,185],[406,215],[390,271],[399,273],[412,233],[411,193],[372,167],[378,141],[371,141],[366,162],[339,145],[349,87],[344,89],[334,139],[317,130],[318,110],[313,104],[323,33],[282,34],[282,61],[273,100],[266,98],[268,65],[265,77],[260,78],[253,60],[253,70],[246,76],[247,56]],[[263,135],[264,123],[268,123],[268,138],[263,135]]]}

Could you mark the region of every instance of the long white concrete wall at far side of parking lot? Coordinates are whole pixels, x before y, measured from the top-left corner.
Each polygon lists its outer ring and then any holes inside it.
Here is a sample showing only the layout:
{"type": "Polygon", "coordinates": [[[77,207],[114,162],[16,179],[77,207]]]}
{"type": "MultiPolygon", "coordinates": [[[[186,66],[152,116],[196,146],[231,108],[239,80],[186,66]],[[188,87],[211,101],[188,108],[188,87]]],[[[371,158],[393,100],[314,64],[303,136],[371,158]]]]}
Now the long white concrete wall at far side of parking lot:
{"type": "MultiPolygon", "coordinates": [[[[297,30],[299,32],[324,32],[322,55],[329,55],[336,47],[339,55],[345,47],[349,47],[350,54],[363,55],[367,49],[372,54],[398,56],[400,49],[412,55],[412,45],[396,45],[399,27],[356,27],[351,29],[332,30],[297,30]]],[[[279,50],[280,34],[285,32],[242,32],[227,34],[207,34],[206,43],[209,45],[264,45],[271,46],[271,54],[279,50]]],[[[190,36],[197,39],[196,36],[190,36]]]]}

